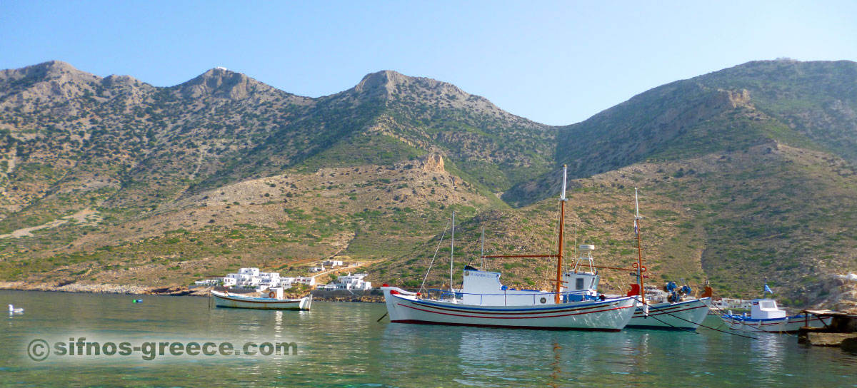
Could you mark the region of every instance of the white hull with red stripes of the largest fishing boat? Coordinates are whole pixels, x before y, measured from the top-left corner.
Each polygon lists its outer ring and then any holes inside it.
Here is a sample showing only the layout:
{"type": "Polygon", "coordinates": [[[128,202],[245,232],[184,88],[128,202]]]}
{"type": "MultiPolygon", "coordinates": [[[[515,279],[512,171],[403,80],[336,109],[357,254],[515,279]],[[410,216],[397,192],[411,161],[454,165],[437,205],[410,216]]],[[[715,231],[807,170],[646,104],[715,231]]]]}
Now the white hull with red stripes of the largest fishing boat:
{"type": "Polygon", "coordinates": [[[622,297],[541,306],[482,306],[418,299],[395,287],[381,290],[390,321],[412,324],[620,331],[631,319],[636,303],[632,298],[622,297]]]}

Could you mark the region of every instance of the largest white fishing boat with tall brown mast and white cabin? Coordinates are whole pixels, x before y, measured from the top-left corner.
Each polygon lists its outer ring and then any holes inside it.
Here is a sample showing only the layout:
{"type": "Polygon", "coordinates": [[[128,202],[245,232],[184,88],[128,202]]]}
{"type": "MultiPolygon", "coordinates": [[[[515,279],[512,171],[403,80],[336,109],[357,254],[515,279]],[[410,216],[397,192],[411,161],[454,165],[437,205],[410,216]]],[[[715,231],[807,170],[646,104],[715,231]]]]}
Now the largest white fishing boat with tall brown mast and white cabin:
{"type": "MultiPolygon", "coordinates": [[[[635,301],[631,297],[607,298],[587,290],[570,290],[563,284],[562,230],[565,218],[566,175],[563,170],[560,195],[560,233],[557,254],[500,255],[485,258],[555,258],[554,291],[515,290],[500,283],[500,272],[464,266],[462,287],[452,288],[455,218],[452,216],[450,288],[436,297],[409,292],[387,284],[381,287],[387,313],[394,323],[620,331],[631,319],[635,301]]],[[[442,236],[441,236],[442,239],[442,236]]],[[[434,263],[434,260],[433,260],[434,263]]],[[[428,270],[430,271],[431,266],[428,270]]],[[[428,274],[427,274],[428,276],[428,274]]],[[[423,282],[424,283],[424,282],[423,282]]]]}

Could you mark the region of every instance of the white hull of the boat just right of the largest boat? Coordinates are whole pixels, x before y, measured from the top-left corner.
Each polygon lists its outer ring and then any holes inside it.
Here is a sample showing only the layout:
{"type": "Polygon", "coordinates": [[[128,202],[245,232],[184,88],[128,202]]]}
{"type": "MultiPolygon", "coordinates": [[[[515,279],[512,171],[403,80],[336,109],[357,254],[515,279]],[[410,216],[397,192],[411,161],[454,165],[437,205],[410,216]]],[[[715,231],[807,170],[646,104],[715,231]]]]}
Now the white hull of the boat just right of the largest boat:
{"type": "Polygon", "coordinates": [[[637,307],[628,327],[696,330],[708,315],[711,298],[678,303],[656,303],[649,306],[649,315],[637,307]]]}

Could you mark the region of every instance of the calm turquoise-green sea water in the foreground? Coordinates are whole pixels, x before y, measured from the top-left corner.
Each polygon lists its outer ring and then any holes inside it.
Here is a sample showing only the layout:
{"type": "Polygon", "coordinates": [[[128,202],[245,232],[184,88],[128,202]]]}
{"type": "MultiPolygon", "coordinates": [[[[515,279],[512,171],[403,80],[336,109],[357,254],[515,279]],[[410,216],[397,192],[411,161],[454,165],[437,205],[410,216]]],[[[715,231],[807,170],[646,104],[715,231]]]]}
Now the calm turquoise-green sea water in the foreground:
{"type": "Polygon", "coordinates": [[[381,304],[322,301],[275,312],[209,308],[192,296],[0,291],[0,306],[9,303],[26,311],[3,315],[3,386],[857,386],[857,355],[794,336],[404,325],[375,322],[381,304]],[[297,355],[27,356],[33,339],[71,337],[286,342],[297,355]]]}

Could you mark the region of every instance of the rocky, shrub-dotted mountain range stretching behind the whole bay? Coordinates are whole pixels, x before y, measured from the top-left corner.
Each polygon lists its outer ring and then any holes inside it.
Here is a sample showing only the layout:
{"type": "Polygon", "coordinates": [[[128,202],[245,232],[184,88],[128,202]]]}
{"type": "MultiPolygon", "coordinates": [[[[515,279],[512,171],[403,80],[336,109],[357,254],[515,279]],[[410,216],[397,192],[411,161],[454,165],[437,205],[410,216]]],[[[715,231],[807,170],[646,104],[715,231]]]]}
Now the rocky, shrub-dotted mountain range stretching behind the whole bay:
{"type": "MultiPolygon", "coordinates": [[[[576,225],[602,264],[633,256],[636,186],[655,281],[749,295],[768,277],[806,303],[857,270],[855,69],[746,63],[567,127],[393,71],[307,98],[222,68],[175,87],[56,61],[3,70],[0,280],[168,287],[339,255],[418,285],[453,210],[459,263],[478,260],[482,228],[494,254],[555,249],[568,164],[566,236],[576,225]]],[[[551,265],[485,266],[544,287],[551,265]]]]}

